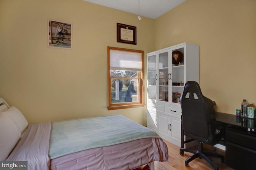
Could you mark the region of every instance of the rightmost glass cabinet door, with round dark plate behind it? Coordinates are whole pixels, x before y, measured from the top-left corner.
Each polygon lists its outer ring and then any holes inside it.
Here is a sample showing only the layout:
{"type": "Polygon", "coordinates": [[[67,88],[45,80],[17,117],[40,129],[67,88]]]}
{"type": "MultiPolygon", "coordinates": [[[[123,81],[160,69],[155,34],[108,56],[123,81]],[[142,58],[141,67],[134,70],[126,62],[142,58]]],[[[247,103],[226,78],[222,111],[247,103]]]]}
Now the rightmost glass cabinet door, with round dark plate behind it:
{"type": "MultiPolygon", "coordinates": [[[[172,101],[171,103],[180,103],[180,96],[184,89],[184,46],[172,49],[172,101]]],[[[175,105],[175,104],[174,104],[175,105]]]]}

